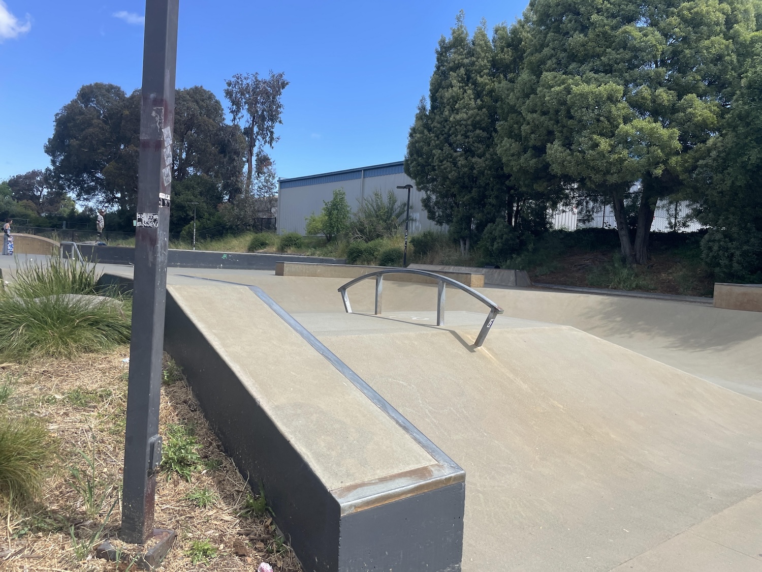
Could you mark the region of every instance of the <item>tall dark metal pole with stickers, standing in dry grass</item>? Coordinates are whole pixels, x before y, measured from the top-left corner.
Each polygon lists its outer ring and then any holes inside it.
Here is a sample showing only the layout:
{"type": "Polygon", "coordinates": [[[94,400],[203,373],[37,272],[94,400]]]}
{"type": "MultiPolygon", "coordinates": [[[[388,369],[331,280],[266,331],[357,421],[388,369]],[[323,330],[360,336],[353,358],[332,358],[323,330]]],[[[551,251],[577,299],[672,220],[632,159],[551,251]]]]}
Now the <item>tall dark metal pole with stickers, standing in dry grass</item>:
{"type": "Polygon", "coordinates": [[[142,544],[153,532],[155,471],[161,462],[162,450],[158,436],[158,405],[167,293],[178,2],[146,0],[135,281],[120,535],[124,541],[135,544],[142,544]]]}

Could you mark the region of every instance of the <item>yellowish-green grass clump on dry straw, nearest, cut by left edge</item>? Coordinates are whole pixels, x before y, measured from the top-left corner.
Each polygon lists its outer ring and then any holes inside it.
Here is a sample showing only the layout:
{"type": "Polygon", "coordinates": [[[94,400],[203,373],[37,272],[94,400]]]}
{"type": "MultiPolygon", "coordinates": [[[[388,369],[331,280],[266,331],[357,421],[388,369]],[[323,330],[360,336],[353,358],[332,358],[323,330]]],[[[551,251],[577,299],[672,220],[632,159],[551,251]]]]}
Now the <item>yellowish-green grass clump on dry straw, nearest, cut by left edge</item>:
{"type": "Polygon", "coordinates": [[[36,419],[0,419],[0,497],[8,502],[33,498],[55,452],[55,442],[36,419]]]}

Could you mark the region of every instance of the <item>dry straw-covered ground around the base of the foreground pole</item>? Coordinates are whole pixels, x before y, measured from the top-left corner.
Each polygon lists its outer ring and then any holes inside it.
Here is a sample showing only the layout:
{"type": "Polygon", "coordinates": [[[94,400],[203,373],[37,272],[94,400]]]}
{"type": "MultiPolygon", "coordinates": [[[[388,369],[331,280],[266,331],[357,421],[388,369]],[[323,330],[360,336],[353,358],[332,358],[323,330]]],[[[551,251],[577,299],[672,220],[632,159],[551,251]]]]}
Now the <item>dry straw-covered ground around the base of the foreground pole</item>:
{"type": "MultiPolygon", "coordinates": [[[[127,355],[120,348],[104,355],[0,365],[14,386],[6,407],[37,417],[62,443],[34,509],[2,515],[0,569],[126,569],[127,564],[94,558],[94,547],[110,538],[128,558],[136,548],[117,536],[127,378],[122,359],[127,355]]],[[[272,519],[259,509],[262,503],[224,454],[191,391],[178,380],[177,368],[168,365],[166,370],[160,431],[165,435],[172,425],[193,432],[201,467],[191,482],[177,474],[158,475],[155,525],[178,532],[162,570],[256,570],[262,561],[278,572],[301,570],[272,519]],[[206,543],[216,548],[216,555],[208,564],[194,566],[194,546],[206,543]]]]}

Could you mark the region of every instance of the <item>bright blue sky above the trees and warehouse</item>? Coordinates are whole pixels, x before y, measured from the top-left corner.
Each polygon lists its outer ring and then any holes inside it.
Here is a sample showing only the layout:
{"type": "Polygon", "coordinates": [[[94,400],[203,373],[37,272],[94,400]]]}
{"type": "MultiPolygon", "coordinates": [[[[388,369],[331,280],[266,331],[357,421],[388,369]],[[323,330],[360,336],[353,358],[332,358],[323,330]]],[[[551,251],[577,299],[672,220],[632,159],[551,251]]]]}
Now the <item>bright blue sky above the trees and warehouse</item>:
{"type": "MultiPolygon", "coordinates": [[[[457,12],[511,23],[520,0],[181,0],[177,87],[223,99],[236,72],[283,71],[280,177],[399,161],[434,50],[457,12]]],[[[139,0],[0,0],[0,180],[50,164],[56,111],[86,83],[139,88],[139,0]]]]}

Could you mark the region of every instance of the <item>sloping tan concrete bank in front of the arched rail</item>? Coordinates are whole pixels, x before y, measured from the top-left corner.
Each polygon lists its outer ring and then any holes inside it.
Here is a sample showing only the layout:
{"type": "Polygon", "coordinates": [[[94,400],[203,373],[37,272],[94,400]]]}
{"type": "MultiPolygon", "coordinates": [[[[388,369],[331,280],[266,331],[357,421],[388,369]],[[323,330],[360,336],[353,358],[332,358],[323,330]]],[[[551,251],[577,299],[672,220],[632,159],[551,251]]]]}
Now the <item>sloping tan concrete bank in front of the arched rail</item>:
{"type": "Polygon", "coordinates": [[[296,314],[467,471],[464,572],[762,570],[762,403],[569,326],[498,317],[472,349],[483,313],[432,316],[296,314]]]}

